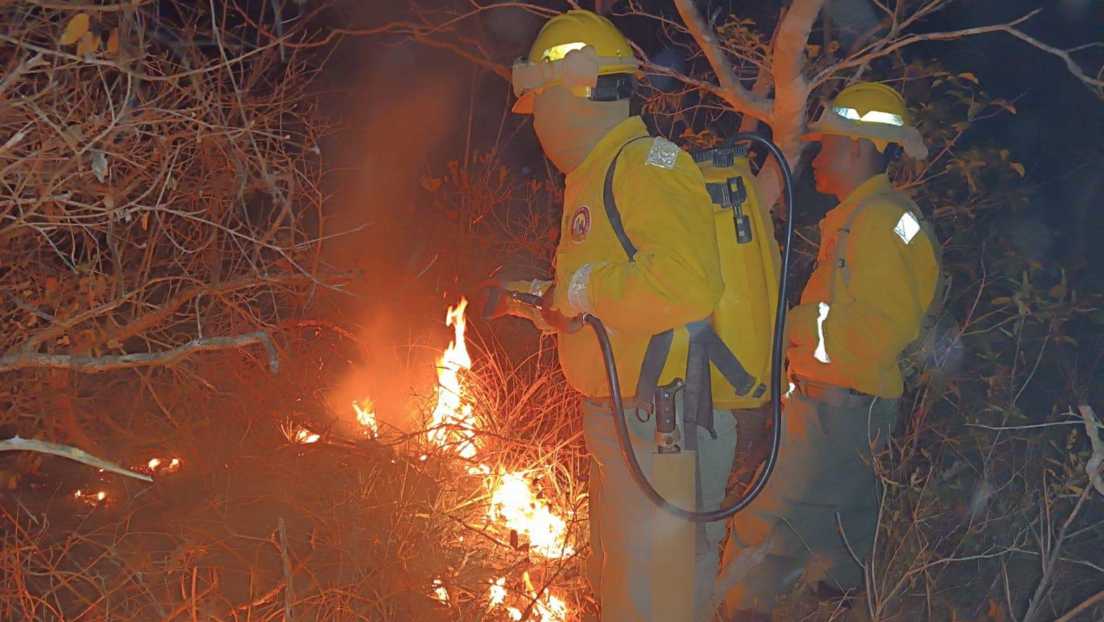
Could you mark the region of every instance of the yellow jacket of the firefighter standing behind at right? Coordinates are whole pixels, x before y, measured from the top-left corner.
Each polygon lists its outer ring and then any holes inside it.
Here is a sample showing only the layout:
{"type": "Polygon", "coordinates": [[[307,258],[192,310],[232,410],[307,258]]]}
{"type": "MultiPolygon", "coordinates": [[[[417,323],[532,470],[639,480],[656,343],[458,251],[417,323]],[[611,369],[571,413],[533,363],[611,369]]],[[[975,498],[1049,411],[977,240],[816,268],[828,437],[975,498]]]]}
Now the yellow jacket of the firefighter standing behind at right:
{"type": "Polygon", "coordinates": [[[816,270],[802,304],[789,312],[793,373],[901,397],[898,357],[920,335],[940,274],[933,240],[920,230],[917,218],[912,200],[884,175],[867,180],[828,212],[820,222],[816,270]],[[836,257],[840,229],[860,205],[843,254],[836,257]],[[849,282],[837,259],[850,270],[849,282]]]}

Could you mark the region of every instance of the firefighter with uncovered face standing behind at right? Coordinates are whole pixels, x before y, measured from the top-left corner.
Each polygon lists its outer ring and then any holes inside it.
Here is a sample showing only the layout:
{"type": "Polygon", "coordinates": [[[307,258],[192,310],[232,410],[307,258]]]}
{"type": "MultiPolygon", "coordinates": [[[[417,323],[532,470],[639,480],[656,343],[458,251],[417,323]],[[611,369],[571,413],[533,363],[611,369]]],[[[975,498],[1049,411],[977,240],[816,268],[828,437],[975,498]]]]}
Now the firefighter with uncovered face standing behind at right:
{"type": "Polygon", "coordinates": [[[887,167],[926,148],[904,99],[883,84],[845,88],[809,126],[819,141],[817,191],[840,203],[820,222],[817,264],[789,313],[793,391],[778,466],[733,520],[725,562],[749,547],[765,557],[728,594],[734,620],[769,620],[799,582],[821,597],[863,584],[878,517],[871,453],[898,419],[899,357],[936,299],[940,245],[887,167]]]}

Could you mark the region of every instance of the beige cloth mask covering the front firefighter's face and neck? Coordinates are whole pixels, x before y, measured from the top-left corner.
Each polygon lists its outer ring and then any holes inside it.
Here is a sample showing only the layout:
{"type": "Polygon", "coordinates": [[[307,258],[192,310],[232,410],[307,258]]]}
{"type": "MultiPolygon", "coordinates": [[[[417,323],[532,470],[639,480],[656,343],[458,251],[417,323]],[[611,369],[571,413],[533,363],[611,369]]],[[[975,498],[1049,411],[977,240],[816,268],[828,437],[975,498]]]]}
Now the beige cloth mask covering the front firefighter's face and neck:
{"type": "Polygon", "coordinates": [[[533,102],[537,138],[564,173],[575,170],[602,137],[628,117],[628,99],[592,102],[563,87],[549,88],[533,102]]]}

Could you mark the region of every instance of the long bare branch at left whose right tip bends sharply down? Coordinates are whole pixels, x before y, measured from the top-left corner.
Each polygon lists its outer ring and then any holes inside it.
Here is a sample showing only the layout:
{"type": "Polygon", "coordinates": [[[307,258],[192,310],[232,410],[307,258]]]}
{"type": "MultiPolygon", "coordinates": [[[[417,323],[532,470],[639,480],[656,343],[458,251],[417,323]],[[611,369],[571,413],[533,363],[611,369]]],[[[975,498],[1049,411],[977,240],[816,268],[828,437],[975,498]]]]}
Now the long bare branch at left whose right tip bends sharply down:
{"type": "Polygon", "coordinates": [[[135,367],[148,367],[171,365],[177,360],[194,352],[206,350],[224,350],[241,348],[253,344],[261,344],[268,354],[268,369],[276,373],[279,370],[279,358],[276,356],[276,347],[273,345],[268,334],[258,330],[246,333],[234,337],[203,337],[161,352],[113,355],[104,357],[79,356],[79,355],[46,355],[40,352],[17,352],[0,357],[0,372],[15,369],[29,368],[52,368],[70,369],[85,373],[97,373],[116,369],[130,369],[135,367]]]}

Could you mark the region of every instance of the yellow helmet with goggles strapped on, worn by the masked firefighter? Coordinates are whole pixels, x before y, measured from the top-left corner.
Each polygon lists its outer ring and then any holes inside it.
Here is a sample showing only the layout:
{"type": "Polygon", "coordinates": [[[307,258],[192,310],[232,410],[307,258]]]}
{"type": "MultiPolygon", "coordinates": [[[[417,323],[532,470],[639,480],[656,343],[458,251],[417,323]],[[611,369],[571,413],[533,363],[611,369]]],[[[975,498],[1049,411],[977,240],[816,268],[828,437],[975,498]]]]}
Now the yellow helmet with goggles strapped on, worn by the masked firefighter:
{"type": "Polygon", "coordinates": [[[529,57],[513,64],[513,112],[531,114],[533,98],[555,85],[598,102],[624,99],[640,75],[631,45],[613,22],[591,11],[567,11],[549,20],[529,57]]]}

